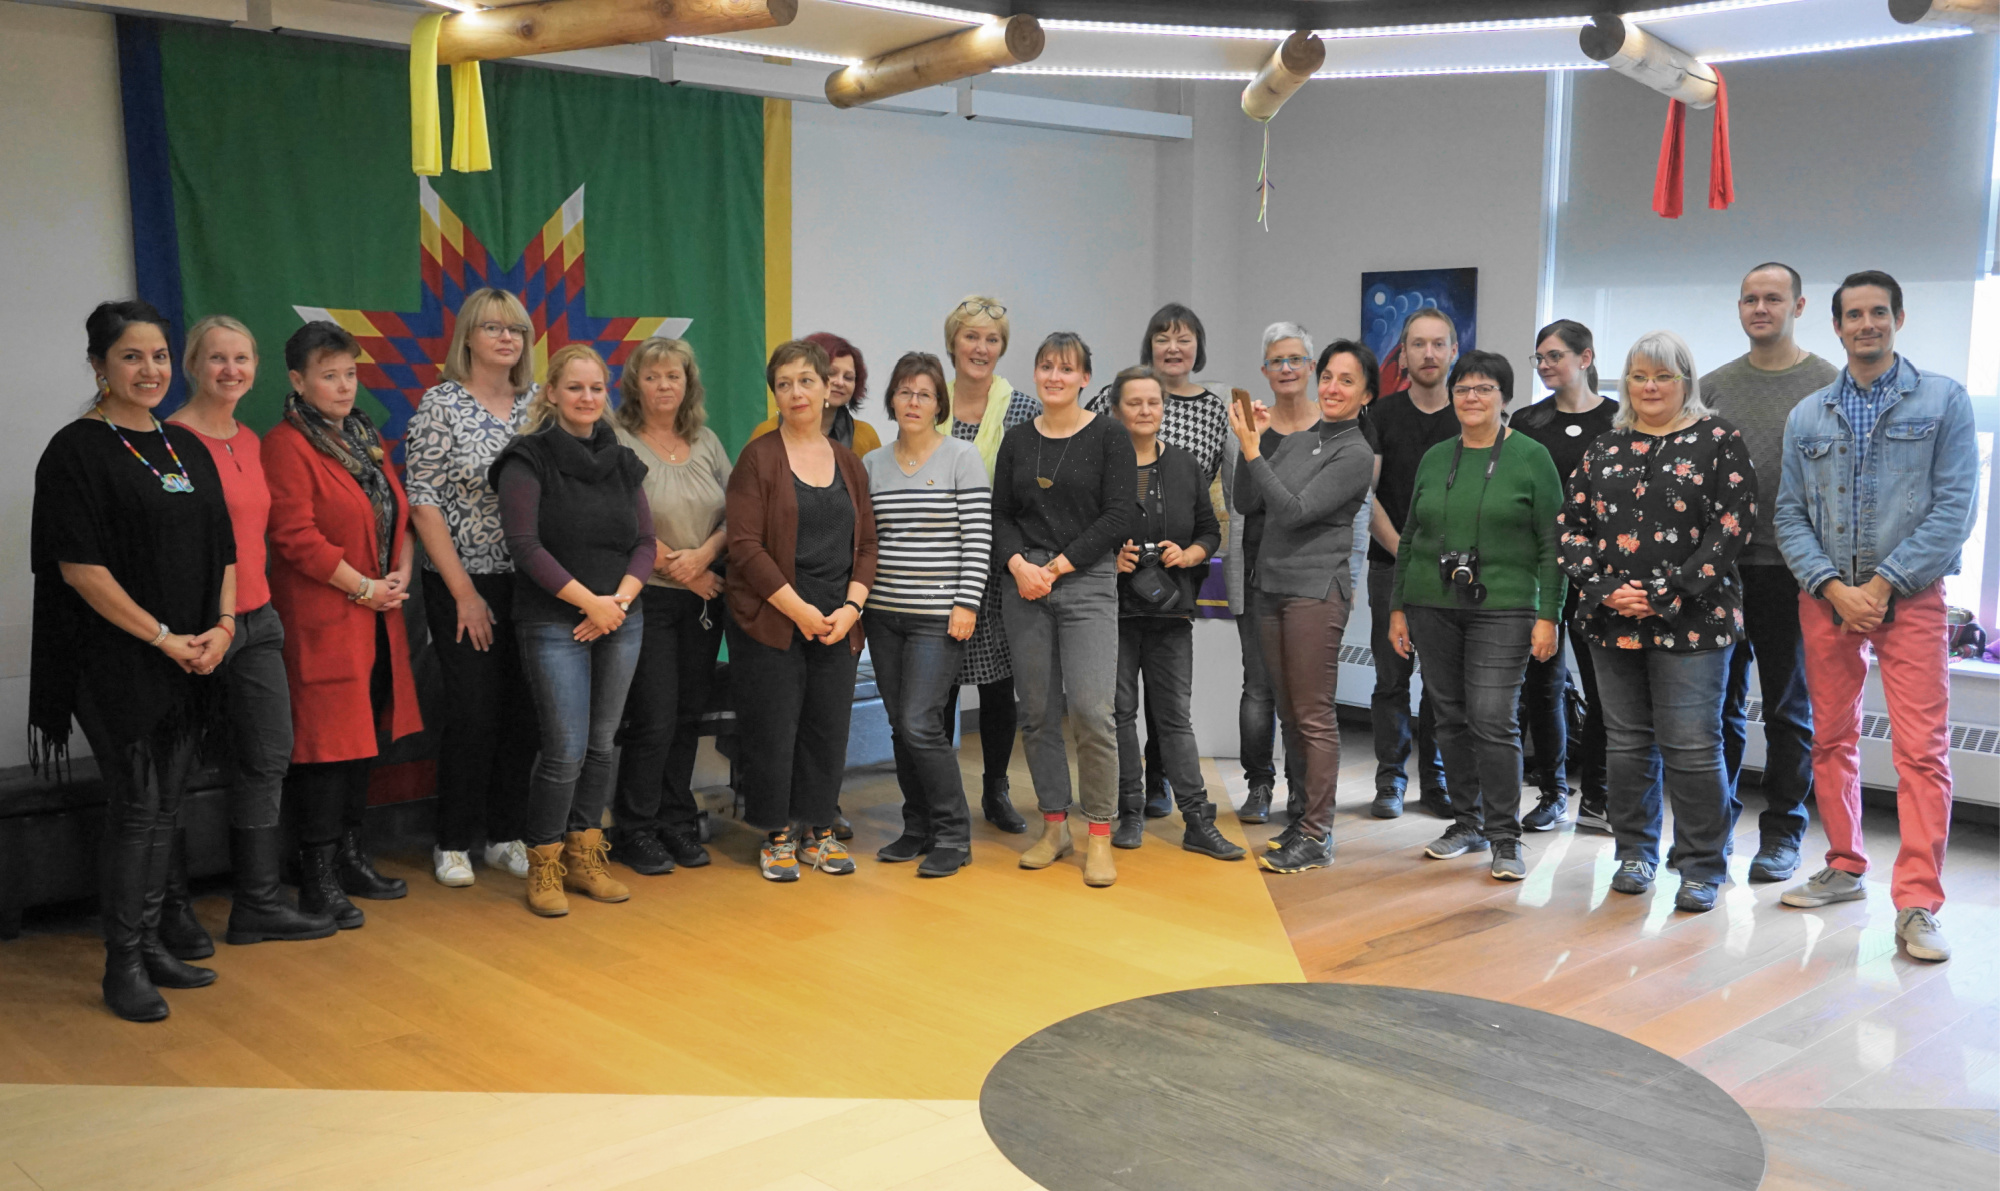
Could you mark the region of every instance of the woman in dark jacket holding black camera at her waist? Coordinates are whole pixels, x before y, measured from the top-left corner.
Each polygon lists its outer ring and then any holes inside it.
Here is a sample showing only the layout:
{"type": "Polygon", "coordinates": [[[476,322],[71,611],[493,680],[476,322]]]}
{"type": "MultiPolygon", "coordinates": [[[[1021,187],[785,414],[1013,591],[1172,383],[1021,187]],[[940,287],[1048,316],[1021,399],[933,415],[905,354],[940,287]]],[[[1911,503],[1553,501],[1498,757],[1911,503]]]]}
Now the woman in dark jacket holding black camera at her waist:
{"type": "Polygon", "coordinates": [[[1208,574],[1208,556],[1222,544],[1222,526],[1208,504],[1208,484],[1196,458],[1160,442],[1166,392],[1146,364],[1126,368],[1110,388],[1110,408],[1132,436],[1138,456],[1138,520],[1118,548],[1118,829],[1112,847],[1146,841],[1146,781],[1138,745],[1138,677],[1146,673],[1146,719],[1186,833],[1180,845],[1216,859],[1242,859],[1216,831],[1216,803],[1202,785],[1194,745],[1194,596],[1208,574]]]}

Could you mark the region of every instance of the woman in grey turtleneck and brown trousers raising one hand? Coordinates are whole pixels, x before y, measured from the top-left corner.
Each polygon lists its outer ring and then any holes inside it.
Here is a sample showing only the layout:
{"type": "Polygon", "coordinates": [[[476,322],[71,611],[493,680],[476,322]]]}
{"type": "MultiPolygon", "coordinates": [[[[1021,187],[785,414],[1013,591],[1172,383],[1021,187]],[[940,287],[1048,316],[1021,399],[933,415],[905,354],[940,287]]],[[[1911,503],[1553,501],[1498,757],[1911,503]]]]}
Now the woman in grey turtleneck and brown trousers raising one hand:
{"type": "Polygon", "coordinates": [[[1278,440],[1264,454],[1270,412],[1230,406],[1242,448],[1236,508],[1264,514],[1256,590],[1264,665],[1278,691],[1278,715],[1306,751],[1306,807],[1258,857],[1274,873],[1334,863],[1334,781],[1340,777],[1340,723],[1334,685],[1340,637],[1354,601],[1354,518],[1368,502],[1382,462],[1360,420],[1382,386],[1374,352],[1334,340],[1320,352],[1320,422],[1278,440]]]}

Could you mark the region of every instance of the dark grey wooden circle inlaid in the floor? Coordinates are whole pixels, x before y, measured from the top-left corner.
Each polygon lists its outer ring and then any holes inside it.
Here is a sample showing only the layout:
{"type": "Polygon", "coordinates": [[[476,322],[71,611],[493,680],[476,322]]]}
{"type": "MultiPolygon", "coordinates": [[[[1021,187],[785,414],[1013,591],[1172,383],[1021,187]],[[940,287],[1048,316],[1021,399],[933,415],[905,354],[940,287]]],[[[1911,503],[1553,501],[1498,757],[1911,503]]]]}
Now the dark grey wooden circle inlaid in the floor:
{"type": "Polygon", "coordinates": [[[1372,985],[1188,989],[1078,1013],[994,1065],[980,1115],[1050,1191],[1764,1179],[1750,1115],[1660,1051],[1538,1009],[1372,985]]]}

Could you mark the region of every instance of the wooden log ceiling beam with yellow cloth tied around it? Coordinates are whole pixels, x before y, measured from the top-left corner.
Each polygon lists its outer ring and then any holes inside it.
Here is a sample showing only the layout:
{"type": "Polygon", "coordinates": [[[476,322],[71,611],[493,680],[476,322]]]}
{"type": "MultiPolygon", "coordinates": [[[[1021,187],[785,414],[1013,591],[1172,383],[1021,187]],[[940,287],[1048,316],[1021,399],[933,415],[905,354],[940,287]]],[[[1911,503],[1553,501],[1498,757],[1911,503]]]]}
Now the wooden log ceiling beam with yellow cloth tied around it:
{"type": "Polygon", "coordinates": [[[596,50],[792,24],[798,0],[540,0],[446,16],[438,64],[596,50]]]}

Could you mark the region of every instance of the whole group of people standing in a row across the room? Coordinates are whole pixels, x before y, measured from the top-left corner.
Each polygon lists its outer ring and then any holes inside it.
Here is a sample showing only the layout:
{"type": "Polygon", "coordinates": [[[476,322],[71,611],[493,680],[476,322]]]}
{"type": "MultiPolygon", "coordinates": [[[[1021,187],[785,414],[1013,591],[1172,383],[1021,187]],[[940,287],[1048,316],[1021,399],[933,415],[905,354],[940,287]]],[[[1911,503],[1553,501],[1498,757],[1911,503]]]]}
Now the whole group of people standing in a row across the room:
{"type": "Polygon", "coordinates": [[[1186,849],[1242,859],[1216,829],[1190,719],[1192,619],[1218,554],[1244,643],[1240,817],[1272,813],[1282,729],[1290,821],[1258,861],[1328,865],[1334,689],[1366,548],[1370,811],[1402,813],[1414,737],[1420,801],[1452,819],[1426,855],[1490,849],[1492,875],[1520,879],[1522,833],[1564,819],[1568,635],[1588,703],[1578,825],[1618,837],[1614,889],[1652,885],[1672,803],[1676,905],[1714,905],[1754,657],[1770,809],[1752,879],[1798,867],[1816,783],[1834,847],[1784,899],[1862,897],[1866,641],[1904,773],[1898,933],[1942,959],[1940,580],[1972,524],[1970,406],[1894,354],[1902,294],[1886,274],[1834,294],[1844,370],[1796,348],[1802,312],[1798,276],[1760,266],[1744,280],[1746,358],[1698,380],[1680,338],[1644,336],[1616,402],[1596,392],[1590,332],[1556,322],[1534,354],[1550,396],[1510,420],[1508,360],[1460,354],[1434,308],[1404,324],[1410,388],[1388,396],[1366,346],[1314,354],[1298,324],[1274,324],[1272,402],[1252,404],[1194,380],[1206,332],[1180,304],[1094,394],[1090,346],[1066,332],[1036,348],[1032,394],[1014,390],[996,372],[1008,312],[972,296],[944,322],[944,360],[910,352],[890,370],[890,444],[854,418],[862,352],[820,334],[772,352],[776,414],[732,464],[686,342],[640,344],[614,404],[588,346],[554,352],[536,384],[526,310],[480,290],[398,468],[356,408],[360,348],[342,328],[286,342],[292,392],[258,440],[236,420],[258,370],[248,328],[188,328],[188,402],[162,424],[170,326],[106,302],[86,324],[96,400],[36,472],[30,709],[42,757],[60,757],[74,717],[106,783],[104,999],[156,1021],[158,989],[214,981],[188,963],[214,943],[176,827],[204,739],[234,767],[230,943],[326,937],[364,923],[354,899],[406,895],[374,869],[362,811],[376,757],[422,729],[404,621],[418,540],[444,685],[434,877],[472,885],[478,857],[524,879],[538,915],[568,913],[572,893],[628,899],[608,861],[642,875],[710,861],[690,781],[724,637],[766,879],[854,871],[840,781],[864,641],[904,793],[878,861],[948,877],[972,859],[960,685],[980,693],[980,809],[1008,833],[1028,831],[1006,777],[1018,719],[1042,819],[1022,867],[1072,855],[1078,811],[1084,883],[1110,885],[1114,849],[1176,805],[1186,849]],[[1522,717],[1546,787],[1526,815],[1522,717]]]}

